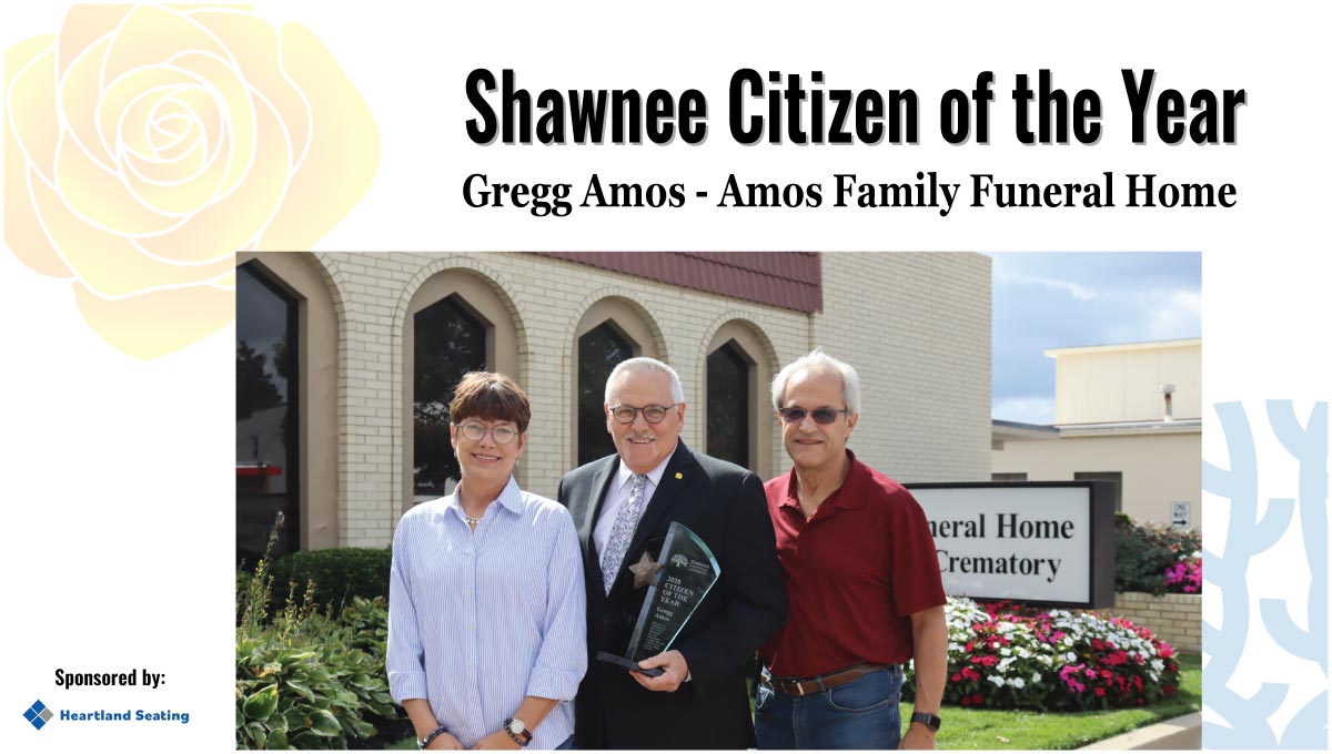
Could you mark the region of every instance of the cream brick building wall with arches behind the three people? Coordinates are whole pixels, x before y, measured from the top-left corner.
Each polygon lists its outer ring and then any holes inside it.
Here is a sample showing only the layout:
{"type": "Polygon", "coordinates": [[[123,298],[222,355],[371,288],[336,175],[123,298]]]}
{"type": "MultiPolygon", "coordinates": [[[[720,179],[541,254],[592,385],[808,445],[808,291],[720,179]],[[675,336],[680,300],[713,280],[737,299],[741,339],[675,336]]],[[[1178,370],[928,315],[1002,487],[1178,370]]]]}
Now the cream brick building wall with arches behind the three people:
{"type": "MultiPolygon", "coordinates": [[[[262,257],[262,255],[261,255],[262,257]]],[[[316,253],[334,287],[338,543],[382,547],[405,511],[404,323],[432,277],[465,271],[511,316],[519,382],[533,402],[523,488],[554,496],[574,459],[574,331],[607,297],[627,299],[659,336],[685,386],[683,440],[706,448],[707,346],[741,320],[769,367],[822,344],[860,372],[864,407],[851,448],[907,481],[990,475],[990,259],[978,254],[823,254],[823,313],[802,314],[533,254],[316,253]]],[[[761,406],[769,406],[761,386],[761,406]]],[[[770,427],[767,467],[790,468],[770,427]]]]}

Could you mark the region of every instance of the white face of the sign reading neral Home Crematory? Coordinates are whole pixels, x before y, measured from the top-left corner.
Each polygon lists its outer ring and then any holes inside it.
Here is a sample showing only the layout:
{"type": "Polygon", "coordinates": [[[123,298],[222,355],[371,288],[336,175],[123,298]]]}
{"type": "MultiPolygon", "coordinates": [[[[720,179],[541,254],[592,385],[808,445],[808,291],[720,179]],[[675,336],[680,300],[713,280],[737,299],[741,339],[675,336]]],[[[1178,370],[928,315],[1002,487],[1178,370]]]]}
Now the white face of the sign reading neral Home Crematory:
{"type": "Polygon", "coordinates": [[[948,596],[1091,602],[1087,487],[912,485],[911,495],[930,519],[948,596]]]}

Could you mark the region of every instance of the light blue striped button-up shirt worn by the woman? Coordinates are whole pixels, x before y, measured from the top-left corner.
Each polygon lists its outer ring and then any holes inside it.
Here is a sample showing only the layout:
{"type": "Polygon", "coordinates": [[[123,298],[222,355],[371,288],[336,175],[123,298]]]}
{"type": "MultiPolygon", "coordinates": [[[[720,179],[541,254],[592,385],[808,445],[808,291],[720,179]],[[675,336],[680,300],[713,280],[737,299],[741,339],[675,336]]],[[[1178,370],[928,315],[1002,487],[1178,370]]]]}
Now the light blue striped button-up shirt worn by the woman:
{"type": "Polygon", "coordinates": [[[409,511],[393,536],[389,581],[393,698],[428,699],[468,749],[498,731],[523,697],[561,699],[531,747],[562,743],[587,670],[578,552],[569,511],[513,479],[476,532],[453,495],[409,511]]]}

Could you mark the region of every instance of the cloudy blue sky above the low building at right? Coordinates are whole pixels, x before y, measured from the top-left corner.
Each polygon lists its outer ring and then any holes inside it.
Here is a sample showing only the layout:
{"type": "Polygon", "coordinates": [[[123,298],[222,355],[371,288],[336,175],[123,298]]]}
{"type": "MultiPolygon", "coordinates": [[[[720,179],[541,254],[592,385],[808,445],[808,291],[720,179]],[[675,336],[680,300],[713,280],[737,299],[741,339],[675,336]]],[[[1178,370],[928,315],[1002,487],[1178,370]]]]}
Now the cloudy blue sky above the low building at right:
{"type": "Polygon", "coordinates": [[[995,253],[991,416],[1055,420],[1046,348],[1200,338],[1197,253],[995,253]]]}

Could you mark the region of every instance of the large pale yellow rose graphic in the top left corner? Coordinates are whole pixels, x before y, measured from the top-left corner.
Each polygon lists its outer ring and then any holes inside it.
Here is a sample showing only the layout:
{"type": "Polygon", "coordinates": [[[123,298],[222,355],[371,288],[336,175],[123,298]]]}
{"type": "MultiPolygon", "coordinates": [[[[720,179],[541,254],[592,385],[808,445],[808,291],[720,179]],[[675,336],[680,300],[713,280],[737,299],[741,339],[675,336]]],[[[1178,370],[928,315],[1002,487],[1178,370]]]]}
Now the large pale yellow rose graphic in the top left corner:
{"type": "Polygon", "coordinates": [[[304,27],[248,7],[73,5],[5,51],[4,241],[107,342],[177,351],[234,311],[234,253],[305,250],[380,162],[304,27]]]}

